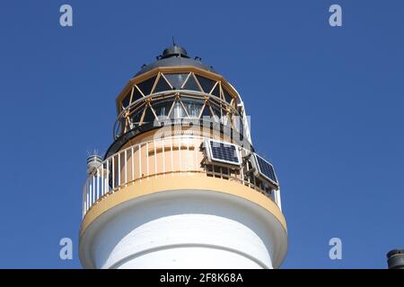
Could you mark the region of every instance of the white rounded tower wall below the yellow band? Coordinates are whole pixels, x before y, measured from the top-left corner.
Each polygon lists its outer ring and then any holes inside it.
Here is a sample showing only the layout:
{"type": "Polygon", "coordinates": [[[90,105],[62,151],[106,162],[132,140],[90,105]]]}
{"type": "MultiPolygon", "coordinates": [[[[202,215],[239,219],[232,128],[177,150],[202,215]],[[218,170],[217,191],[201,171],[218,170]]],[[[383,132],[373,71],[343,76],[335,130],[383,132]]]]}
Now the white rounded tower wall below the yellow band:
{"type": "Polygon", "coordinates": [[[258,204],[211,190],[176,190],[101,214],[81,236],[80,254],[92,268],[273,268],[286,244],[282,224],[258,204]]]}

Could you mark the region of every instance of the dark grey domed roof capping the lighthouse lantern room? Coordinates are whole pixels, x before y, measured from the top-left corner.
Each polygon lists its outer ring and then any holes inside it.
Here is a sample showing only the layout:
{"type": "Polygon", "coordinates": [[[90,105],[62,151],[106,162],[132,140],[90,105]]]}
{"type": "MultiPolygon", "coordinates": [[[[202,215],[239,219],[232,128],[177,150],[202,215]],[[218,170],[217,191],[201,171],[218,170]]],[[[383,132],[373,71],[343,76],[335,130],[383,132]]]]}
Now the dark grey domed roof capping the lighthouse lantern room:
{"type": "Polygon", "coordinates": [[[154,61],[154,63],[149,65],[143,65],[141,70],[137,74],[135,74],[135,76],[139,74],[145,74],[146,72],[151,71],[159,66],[175,66],[175,65],[191,65],[215,73],[215,70],[213,69],[212,66],[204,65],[201,63],[200,57],[195,57],[194,59],[190,58],[185,48],[182,48],[175,44],[174,46],[165,48],[162,51],[162,55],[156,58],[157,60],[154,61]]]}

